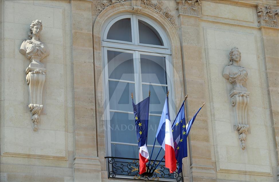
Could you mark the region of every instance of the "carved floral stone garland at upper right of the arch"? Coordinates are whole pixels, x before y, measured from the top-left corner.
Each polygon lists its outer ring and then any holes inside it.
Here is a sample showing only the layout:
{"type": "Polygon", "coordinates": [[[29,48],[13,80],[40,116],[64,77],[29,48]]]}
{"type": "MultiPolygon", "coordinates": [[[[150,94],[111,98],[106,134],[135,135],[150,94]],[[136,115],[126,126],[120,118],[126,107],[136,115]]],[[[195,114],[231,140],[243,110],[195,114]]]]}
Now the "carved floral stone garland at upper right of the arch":
{"type": "Polygon", "coordinates": [[[163,10],[163,6],[164,6],[163,1],[160,0],[157,1],[157,3],[152,3],[152,1],[150,0],[142,0],[142,2],[147,7],[151,7],[152,9],[154,9],[156,13],[162,13],[162,15],[164,15],[164,17],[168,19],[172,25],[174,26],[176,25],[173,15],[170,14],[170,8],[165,7],[163,10]]]}

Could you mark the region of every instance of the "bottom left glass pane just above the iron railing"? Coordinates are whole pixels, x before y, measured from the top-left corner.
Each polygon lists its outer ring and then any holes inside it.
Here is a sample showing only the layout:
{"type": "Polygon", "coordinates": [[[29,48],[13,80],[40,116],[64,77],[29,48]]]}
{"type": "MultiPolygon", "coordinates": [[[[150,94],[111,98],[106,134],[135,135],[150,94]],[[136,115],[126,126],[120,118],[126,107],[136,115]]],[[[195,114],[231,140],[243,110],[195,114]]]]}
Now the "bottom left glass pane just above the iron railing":
{"type": "Polygon", "coordinates": [[[139,158],[139,148],[137,145],[111,144],[111,156],[139,158]]]}

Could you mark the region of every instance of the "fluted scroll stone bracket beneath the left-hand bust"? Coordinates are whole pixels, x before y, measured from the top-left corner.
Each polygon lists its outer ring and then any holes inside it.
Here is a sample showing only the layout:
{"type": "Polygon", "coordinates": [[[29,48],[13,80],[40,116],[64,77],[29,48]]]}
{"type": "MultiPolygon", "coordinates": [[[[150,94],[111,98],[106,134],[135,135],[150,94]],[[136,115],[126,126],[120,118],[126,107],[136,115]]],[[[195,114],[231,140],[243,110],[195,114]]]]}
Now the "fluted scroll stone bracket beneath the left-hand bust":
{"type": "Polygon", "coordinates": [[[29,109],[32,113],[33,131],[38,130],[37,124],[40,121],[40,113],[43,109],[42,93],[46,80],[47,70],[44,68],[28,67],[25,71],[26,81],[29,85],[29,109]]]}

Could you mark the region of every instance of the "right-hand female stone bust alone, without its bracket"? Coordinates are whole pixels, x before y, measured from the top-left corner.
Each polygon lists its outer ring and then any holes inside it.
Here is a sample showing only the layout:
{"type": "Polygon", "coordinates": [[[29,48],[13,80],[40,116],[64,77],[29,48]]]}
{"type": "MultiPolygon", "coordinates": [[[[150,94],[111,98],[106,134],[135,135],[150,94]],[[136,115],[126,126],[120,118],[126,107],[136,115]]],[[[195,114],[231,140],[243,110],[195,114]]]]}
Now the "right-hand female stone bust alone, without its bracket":
{"type": "Polygon", "coordinates": [[[242,85],[248,78],[247,70],[239,66],[241,52],[238,48],[233,47],[229,55],[230,62],[223,70],[223,77],[228,79],[229,82],[233,84],[234,88],[242,88],[243,91],[247,91],[247,89],[242,85]]]}

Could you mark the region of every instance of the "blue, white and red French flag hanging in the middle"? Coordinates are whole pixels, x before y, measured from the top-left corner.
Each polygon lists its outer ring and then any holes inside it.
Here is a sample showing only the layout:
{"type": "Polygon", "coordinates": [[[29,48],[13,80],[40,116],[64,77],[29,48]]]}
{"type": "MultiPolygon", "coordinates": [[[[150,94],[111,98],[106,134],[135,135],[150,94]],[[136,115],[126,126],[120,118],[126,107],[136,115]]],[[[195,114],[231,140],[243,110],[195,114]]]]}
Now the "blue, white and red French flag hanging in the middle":
{"type": "Polygon", "coordinates": [[[176,171],[176,158],[172,137],[172,124],[170,123],[170,112],[168,108],[168,96],[166,97],[156,138],[158,143],[165,150],[165,166],[170,169],[170,173],[173,173],[176,171]]]}

